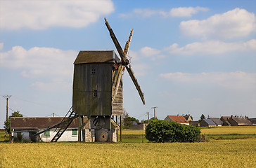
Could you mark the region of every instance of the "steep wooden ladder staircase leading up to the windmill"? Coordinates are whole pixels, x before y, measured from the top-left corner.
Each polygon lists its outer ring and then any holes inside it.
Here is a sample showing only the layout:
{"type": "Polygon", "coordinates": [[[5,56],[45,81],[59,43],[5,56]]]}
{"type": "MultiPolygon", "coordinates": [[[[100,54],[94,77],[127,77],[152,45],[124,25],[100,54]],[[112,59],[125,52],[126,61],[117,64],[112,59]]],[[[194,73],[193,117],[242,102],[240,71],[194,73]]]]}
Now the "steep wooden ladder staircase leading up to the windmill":
{"type": "Polygon", "coordinates": [[[56,135],[51,139],[51,142],[56,142],[58,139],[61,137],[61,135],[67,130],[68,126],[72,123],[72,121],[78,117],[78,114],[75,113],[74,111],[70,112],[70,116],[68,118],[63,118],[63,121],[61,122],[62,124],[59,125],[59,127],[56,127],[57,131],[56,135]]]}

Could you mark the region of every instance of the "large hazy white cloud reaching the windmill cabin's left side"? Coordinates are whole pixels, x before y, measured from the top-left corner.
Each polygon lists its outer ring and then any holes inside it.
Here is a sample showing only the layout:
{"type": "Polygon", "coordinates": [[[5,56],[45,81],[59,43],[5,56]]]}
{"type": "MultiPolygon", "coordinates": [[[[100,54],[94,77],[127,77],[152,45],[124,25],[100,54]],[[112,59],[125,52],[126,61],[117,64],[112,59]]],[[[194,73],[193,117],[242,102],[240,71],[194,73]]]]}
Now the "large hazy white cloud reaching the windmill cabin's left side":
{"type": "Polygon", "coordinates": [[[34,87],[40,88],[50,84],[67,83],[67,80],[72,78],[76,56],[77,52],[74,50],[38,47],[25,50],[21,46],[15,46],[8,52],[0,52],[0,66],[18,69],[20,75],[25,78],[48,81],[47,85],[42,81],[34,83],[34,87]]]}

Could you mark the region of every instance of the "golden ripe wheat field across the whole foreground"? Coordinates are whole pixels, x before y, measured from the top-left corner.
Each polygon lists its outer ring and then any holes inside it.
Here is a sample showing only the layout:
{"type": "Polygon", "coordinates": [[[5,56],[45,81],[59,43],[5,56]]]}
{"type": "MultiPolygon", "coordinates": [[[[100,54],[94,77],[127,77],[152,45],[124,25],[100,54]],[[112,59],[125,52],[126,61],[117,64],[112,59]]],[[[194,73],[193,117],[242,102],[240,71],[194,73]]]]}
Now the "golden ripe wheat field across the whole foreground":
{"type": "Polygon", "coordinates": [[[0,144],[0,167],[254,167],[256,139],[204,143],[0,144]]]}

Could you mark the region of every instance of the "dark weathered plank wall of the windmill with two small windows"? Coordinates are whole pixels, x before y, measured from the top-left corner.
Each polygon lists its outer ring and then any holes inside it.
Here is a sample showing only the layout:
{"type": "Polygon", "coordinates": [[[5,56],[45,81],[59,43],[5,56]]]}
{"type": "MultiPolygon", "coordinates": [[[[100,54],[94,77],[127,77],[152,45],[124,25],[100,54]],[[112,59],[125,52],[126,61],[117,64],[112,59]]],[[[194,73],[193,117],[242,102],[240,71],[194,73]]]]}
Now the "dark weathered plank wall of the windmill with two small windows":
{"type": "Polygon", "coordinates": [[[73,109],[81,116],[110,116],[112,64],[76,64],[73,109]],[[92,71],[95,70],[95,73],[92,71]]]}

